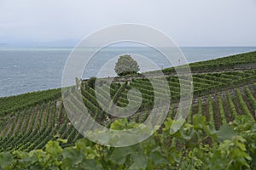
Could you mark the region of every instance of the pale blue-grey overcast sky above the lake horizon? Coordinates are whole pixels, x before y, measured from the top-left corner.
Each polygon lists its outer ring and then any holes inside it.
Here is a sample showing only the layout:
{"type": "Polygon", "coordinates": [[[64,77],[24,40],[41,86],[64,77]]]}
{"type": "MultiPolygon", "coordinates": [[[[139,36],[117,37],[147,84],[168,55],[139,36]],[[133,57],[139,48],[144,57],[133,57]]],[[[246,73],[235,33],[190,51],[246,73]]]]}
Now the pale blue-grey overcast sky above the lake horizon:
{"type": "Polygon", "coordinates": [[[0,0],[0,46],[73,46],[122,23],[178,46],[256,46],[256,0],[0,0]]]}

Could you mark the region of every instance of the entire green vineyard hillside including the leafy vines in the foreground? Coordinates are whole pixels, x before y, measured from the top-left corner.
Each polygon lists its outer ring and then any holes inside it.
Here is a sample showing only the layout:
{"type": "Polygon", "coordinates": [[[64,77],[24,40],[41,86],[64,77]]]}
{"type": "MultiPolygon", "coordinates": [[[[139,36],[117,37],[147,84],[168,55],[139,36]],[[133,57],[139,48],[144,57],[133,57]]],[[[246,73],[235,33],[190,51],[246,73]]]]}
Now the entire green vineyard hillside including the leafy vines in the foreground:
{"type": "MultiPolygon", "coordinates": [[[[168,134],[177,114],[179,82],[189,87],[190,81],[186,77],[179,79],[173,68],[164,69],[172,97],[166,122],[152,138],[128,148],[108,148],[83,139],[67,117],[61,89],[0,98],[0,167],[256,169],[256,52],[193,63],[190,68],[193,104],[182,129],[168,134]]],[[[81,92],[84,105],[96,122],[119,129],[126,128],[125,124],[132,127],[144,122],[154,105],[152,84],[142,77],[134,77],[130,82],[113,82],[110,95],[114,103],[121,107],[128,105],[127,92],[131,88],[140,90],[143,103],[136,114],[127,118],[109,116],[102,111],[95,90],[86,81],[81,92]],[[118,127],[120,123],[125,124],[118,127]]],[[[100,91],[103,98],[108,94],[104,85],[100,91]]],[[[137,96],[131,94],[131,100],[137,101],[137,96]]],[[[76,111],[77,105],[66,109],[76,111]]]]}

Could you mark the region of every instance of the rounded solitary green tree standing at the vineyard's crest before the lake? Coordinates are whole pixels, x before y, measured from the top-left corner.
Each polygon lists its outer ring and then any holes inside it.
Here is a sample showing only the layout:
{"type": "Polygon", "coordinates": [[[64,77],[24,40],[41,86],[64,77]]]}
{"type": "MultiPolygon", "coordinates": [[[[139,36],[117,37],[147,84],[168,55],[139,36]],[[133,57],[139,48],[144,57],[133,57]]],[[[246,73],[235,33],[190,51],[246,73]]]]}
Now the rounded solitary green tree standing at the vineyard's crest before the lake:
{"type": "Polygon", "coordinates": [[[118,76],[136,74],[139,70],[137,61],[132,59],[131,55],[128,54],[121,55],[114,67],[114,71],[118,76]]]}

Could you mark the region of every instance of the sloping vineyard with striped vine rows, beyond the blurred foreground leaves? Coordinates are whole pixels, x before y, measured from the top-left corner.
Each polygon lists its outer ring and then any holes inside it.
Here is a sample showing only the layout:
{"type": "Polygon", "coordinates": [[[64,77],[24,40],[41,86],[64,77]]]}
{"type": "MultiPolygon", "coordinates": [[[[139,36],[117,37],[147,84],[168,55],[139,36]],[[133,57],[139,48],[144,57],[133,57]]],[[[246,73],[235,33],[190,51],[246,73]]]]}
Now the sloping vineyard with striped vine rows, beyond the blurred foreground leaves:
{"type": "MultiPolygon", "coordinates": [[[[253,64],[256,65],[256,52],[191,64],[193,102],[186,122],[196,125],[198,119],[195,117],[205,117],[207,126],[215,130],[221,129],[230,122],[236,122],[237,116],[247,116],[255,122],[256,70],[253,64]],[[250,67],[248,68],[247,65],[250,67]]],[[[172,99],[167,120],[173,120],[177,114],[177,104],[180,99],[179,82],[182,81],[188,88],[191,84],[185,76],[178,78],[172,72],[172,68],[164,70],[172,99]]],[[[105,127],[113,127],[113,123],[124,120],[134,123],[144,122],[153,108],[154,94],[165,95],[165,91],[161,88],[163,85],[158,83],[157,88],[153,88],[147,78],[135,77],[126,82],[113,82],[110,92],[102,83],[98,88],[101,98],[108,99],[107,96],[110,94],[113,103],[120,107],[129,105],[127,94],[132,88],[137,88],[142,93],[142,105],[134,115],[126,118],[109,116],[103,111],[96,99],[95,89],[90,87],[87,81],[82,82],[79,87],[83,103],[71,93],[70,101],[73,102],[68,108],[64,108],[61,89],[0,98],[0,152],[28,152],[45,150],[45,147],[47,150],[49,140],[57,139],[67,139],[67,142],[60,142],[59,147],[73,146],[76,141],[83,139],[83,136],[73,127],[66,111],[76,112],[79,105],[85,105],[90,116],[105,127]]],[[[136,103],[137,94],[129,95],[130,102],[136,103]]],[[[90,126],[88,120],[83,120],[83,123],[86,127],[90,126]]],[[[161,129],[165,128],[166,125],[161,127],[161,129]]],[[[214,138],[210,134],[204,134],[212,139],[204,139],[203,143],[211,145],[214,138]]],[[[180,145],[173,139],[170,139],[168,144],[180,145]]]]}

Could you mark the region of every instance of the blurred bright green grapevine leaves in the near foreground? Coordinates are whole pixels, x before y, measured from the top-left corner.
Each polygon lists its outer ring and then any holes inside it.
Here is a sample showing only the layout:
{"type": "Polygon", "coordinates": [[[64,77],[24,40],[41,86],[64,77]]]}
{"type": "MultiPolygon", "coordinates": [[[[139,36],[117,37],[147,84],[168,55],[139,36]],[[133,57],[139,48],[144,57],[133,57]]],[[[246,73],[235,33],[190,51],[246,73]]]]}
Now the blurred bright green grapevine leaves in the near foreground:
{"type": "MultiPolygon", "coordinates": [[[[213,130],[204,116],[195,115],[177,133],[170,134],[168,118],[158,133],[146,141],[113,148],[80,139],[49,141],[44,150],[0,153],[1,169],[256,169],[256,124],[248,116],[213,130]]],[[[136,126],[134,122],[131,126],[136,126]]],[[[127,127],[120,120],[112,128],[127,127]]]]}

